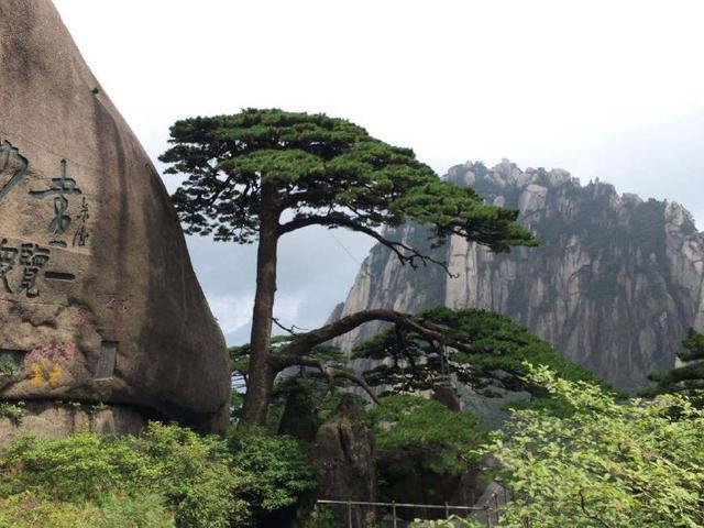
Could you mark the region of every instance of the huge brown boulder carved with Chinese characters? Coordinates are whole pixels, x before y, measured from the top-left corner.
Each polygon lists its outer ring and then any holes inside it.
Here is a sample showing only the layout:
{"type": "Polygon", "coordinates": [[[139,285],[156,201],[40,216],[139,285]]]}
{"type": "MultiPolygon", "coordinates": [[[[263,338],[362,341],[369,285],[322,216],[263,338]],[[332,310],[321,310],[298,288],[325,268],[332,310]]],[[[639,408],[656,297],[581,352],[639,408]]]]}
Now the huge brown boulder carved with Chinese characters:
{"type": "Polygon", "coordinates": [[[227,350],[176,213],[48,0],[0,0],[0,210],[1,398],[223,430],[227,350]]]}

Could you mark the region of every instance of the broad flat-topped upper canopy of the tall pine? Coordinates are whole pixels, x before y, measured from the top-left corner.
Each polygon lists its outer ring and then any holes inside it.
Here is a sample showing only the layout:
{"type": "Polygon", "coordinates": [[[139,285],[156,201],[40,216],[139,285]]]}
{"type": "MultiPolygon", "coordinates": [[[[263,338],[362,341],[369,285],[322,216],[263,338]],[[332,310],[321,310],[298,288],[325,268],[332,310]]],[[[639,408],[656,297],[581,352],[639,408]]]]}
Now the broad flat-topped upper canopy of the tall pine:
{"type": "Polygon", "coordinates": [[[535,243],[515,223],[517,211],[484,205],[473,190],[441,182],[413,151],[343,119],[248,109],[178,121],[169,142],[161,160],[167,173],[187,175],[174,202],[189,233],[252,242],[264,206],[290,211],[294,229],[413,219],[433,224],[439,239],[461,234],[495,250],[535,243]]]}

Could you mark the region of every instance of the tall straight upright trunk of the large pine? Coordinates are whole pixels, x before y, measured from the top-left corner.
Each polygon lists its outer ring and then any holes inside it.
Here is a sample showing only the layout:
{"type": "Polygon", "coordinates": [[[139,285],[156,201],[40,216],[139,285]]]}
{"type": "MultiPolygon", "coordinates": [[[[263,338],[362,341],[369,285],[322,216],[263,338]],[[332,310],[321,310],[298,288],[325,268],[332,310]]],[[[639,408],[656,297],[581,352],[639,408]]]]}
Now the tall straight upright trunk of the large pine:
{"type": "Polygon", "coordinates": [[[276,252],[278,246],[278,217],[275,189],[262,186],[260,241],[256,254],[256,295],[252,312],[252,336],[249,380],[242,421],[263,425],[266,420],[276,373],[267,359],[272,341],[272,319],[276,296],[276,252]]]}

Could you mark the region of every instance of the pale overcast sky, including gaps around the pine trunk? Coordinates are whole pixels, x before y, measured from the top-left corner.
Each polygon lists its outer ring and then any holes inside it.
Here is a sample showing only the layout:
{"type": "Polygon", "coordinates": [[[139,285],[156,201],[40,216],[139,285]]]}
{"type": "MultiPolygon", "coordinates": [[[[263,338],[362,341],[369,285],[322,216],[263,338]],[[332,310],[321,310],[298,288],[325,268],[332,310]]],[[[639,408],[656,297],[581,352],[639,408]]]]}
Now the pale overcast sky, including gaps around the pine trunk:
{"type": "MultiPolygon", "coordinates": [[[[704,224],[701,0],[55,3],[154,161],[180,118],[326,112],[413,147],[439,174],[502,157],[562,167],[679,201],[704,224]]],[[[315,327],[371,242],[340,230],[288,237],[276,315],[315,327]]],[[[189,248],[228,341],[248,340],[254,249],[189,248]]]]}

